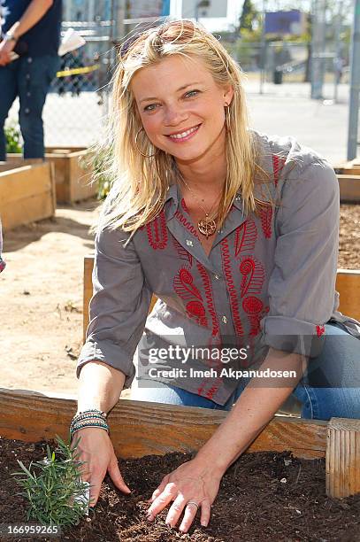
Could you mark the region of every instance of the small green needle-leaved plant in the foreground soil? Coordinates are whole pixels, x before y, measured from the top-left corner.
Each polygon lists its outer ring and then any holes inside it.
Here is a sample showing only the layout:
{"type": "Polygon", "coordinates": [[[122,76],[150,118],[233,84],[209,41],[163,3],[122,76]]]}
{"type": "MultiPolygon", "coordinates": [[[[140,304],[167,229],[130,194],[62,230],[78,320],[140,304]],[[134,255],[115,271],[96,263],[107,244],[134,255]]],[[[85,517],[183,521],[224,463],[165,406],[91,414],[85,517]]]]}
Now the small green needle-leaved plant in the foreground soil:
{"type": "Polygon", "coordinates": [[[84,461],[77,461],[79,441],[80,438],[70,447],[57,436],[57,449],[51,452],[50,446],[46,445],[47,457],[44,460],[31,461],[29,468],[18,460],[22,471],[11,474],[23,476],[16,482],[25,490],[19,494],[29,501],[27,520],[65,527],[77,525],[87,514],[89,486],[80,478],[84,461]]]}

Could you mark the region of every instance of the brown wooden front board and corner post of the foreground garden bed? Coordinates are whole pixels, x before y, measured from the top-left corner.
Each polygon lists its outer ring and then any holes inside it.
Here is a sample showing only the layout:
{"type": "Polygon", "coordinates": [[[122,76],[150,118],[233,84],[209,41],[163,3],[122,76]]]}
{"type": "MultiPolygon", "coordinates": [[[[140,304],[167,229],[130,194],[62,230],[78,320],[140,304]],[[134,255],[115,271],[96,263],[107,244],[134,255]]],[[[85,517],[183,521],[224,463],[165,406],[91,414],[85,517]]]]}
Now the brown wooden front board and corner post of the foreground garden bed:
{"type": "MultiPolygon", "coordinates": [[[[0,435],[24,442],[67,439],[76,412],[74,398],[0,388],[0,435]]],[[[120,400],[109,414],[117,456],[140,458],[197,451],[226,418],[226,412],[193,406],[120,400]]],[[[289,451],[304,459],[326,458],[326,493],[360,492],[360,420],[330,422],[274,417],[247,452],[289,451]]]]}

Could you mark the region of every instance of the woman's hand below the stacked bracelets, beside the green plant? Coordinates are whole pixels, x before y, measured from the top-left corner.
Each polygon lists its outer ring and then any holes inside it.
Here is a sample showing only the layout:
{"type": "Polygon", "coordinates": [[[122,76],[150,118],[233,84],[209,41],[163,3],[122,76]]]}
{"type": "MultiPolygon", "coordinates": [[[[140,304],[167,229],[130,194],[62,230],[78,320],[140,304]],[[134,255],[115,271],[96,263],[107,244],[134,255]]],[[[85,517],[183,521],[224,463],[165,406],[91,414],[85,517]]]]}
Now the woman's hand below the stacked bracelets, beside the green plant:
{"type": "Polygon", "coordinates": [[[130,493],[121,476],[108,433],[100,428],[84,427],[74,433],[73,443],[79,438],[77,461],[86,461],[81,466],[81,479],[90,484],[89,506],[95,507],[106,472],[109,472],[112,482],[121,492],[130,493]]]}

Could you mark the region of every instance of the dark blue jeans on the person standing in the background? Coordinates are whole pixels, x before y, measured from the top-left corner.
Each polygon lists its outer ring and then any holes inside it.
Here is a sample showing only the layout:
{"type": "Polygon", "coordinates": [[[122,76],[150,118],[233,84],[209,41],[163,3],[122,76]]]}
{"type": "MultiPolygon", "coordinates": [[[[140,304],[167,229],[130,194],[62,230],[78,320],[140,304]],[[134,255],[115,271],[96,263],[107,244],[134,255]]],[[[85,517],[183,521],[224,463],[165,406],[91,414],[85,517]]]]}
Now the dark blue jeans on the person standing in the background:
{"type": "Polygon", "coordinates": [[[44,55],[20,57],[7,66],[0,66],[0,161],[6,159],[4,122],[18,96],[24,158],[43,159],[42,108],[58,65],[58,57],[44,55]]]}

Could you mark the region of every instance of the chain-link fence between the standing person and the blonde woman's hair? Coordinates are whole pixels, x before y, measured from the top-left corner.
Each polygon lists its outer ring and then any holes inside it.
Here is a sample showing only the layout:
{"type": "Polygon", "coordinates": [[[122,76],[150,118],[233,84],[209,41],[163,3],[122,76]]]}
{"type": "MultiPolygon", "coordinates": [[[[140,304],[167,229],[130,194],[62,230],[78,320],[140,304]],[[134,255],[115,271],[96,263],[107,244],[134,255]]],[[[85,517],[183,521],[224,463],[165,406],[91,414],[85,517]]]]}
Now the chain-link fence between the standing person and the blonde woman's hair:
{"type": "MultiPolygon", "coordinates": [[[[42,114],[47,147],[88,147],[96,143],[108,111],[111,20],[64,21],[62,33],[70,27],[86,43],[60,57],[42,114]]],[[[19,99],[9,112],[8,128],[17,127],[18,115],[19,99]]]]}

